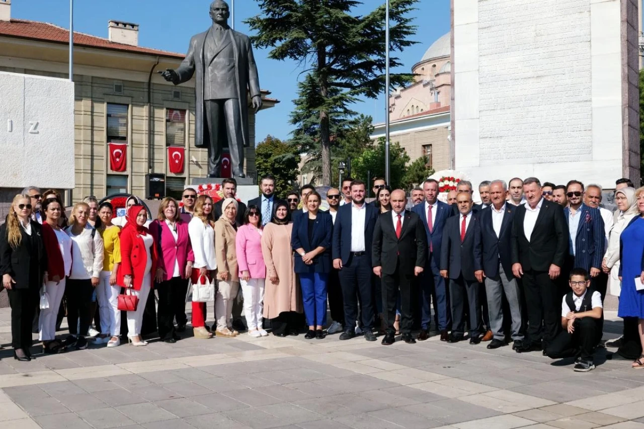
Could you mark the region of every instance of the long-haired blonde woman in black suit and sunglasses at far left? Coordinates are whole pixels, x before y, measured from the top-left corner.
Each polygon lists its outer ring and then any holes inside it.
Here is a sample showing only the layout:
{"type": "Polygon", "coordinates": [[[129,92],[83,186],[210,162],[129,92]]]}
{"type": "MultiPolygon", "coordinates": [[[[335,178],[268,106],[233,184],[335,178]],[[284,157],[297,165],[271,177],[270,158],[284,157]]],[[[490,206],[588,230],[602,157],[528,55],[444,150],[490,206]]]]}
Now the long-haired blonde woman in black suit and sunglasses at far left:
{"type": "Polygon", "coordinates": [[[14,359],[30,361],[33,314],[47,270],[41,225],[31,219],[29,195],[16,195],[0,227],[0,274],[11,305],[14,359]]]}

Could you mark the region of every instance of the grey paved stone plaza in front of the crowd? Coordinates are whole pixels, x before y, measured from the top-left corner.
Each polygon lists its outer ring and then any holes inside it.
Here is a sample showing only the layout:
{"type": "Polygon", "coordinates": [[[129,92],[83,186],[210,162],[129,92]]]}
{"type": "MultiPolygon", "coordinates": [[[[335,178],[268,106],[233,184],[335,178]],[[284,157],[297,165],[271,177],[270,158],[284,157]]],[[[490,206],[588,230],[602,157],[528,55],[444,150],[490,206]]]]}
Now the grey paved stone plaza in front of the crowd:
{"type": "MultiPolygon", "coordinates": [[[[9,314],[0,309],[5,346],[9,314]]],[[[607,321],[605,338],[620,329],[607,321]]],[[[90,345],[27,363],[5,348],[0,429],[644,429],[644,370],[598,354],[598,368],[580,374],[571,361],[437,336],[385,347],[242,334],[90,345]]]]}

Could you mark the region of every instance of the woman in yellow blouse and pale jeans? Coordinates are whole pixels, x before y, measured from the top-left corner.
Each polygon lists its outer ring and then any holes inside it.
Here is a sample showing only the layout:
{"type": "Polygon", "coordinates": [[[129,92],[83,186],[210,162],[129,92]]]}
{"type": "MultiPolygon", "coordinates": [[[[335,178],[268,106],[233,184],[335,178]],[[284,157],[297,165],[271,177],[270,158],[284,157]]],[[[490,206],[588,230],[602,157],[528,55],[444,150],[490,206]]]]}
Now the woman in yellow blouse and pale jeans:
{"type": "Polygon", "coordinates": [[[118,310],[118,295],[121,287],[117,285],[117,270],[120,263],[120,243],[118,234],[120,228],[112,224],[114,208],[109,202],[99,206],[100,229],[103,238],[104,260],[100,272],[99,285],[96,287],[96,298],[99,301],[100,338],[97,343],[108,342],[108,347],[120,344],[120,310],[118,310]]]}

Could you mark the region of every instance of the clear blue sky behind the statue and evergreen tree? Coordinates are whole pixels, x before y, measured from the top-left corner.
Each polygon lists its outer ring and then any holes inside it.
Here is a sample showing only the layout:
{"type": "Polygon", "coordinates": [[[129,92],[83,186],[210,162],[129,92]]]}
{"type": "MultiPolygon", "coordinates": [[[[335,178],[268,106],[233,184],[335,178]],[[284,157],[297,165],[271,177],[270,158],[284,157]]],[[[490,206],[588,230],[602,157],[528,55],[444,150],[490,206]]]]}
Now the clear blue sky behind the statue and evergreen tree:
{"type": "MultiPolygon", "coordinates": [[[[77,32],[108,36],[108,21],[126,21],[140,24],[139,45],[171,52],[185,53],[190,37],[202,32],[211,24],[208,8],[211,0],[75,0],[74,30],[77,32]]],[[[235,0],[235,30],[249,34],[242,23],[260,13],[255,0],[235,0]]],[[[382,4],[381,0],[363,0],[356,9],[365,14],[382,4]]],[[[231,0],[229,0],[231,4],[231,0]]],[[[12,17],[44,21],[68,28],[68,0],[14,0],[12,17]]],[[[399,53],[404,67],[392,72],[410,72],[431,43],[450,31],[450,0],[419,0],[413,12],[418,26],[413,40],[420,43],[399,53]]],[[[293,61],[275,61],[267,58],[267,50],[255,50],[260,72],[261,88],[272,91],[271,97],[281,100],[274,108],[263,110],[256,121],[256,138],[260,142],[266,135],[289,138],[292,126],[289,113],[296,98],[299,77],[298,64],[293,61]]],[[[378,100],[365,100],[355,110],[372,115],[375,122],[384,120],[384,94],[378,100]]]]}

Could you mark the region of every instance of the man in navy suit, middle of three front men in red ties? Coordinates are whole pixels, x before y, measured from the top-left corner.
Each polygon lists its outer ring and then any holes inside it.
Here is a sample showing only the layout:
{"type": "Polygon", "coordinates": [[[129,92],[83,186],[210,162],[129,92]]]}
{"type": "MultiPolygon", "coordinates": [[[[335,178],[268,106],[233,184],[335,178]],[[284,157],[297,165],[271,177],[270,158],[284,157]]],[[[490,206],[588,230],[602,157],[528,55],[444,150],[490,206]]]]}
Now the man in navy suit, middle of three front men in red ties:
{"type": "Polygon", "coordinates": [[[431,322],[431,301],[437,314],[437,325],[440,330],[440,341],[447,341],[451,325],[450,297],[445,279],[440,276],[440,247],[445,221],[452,215],[451,207],[439,201],[439,182],[425,180],[422,184],[425,201],[412,207],[413,213],[421,217],[427,234],[427,261],[421,276],[421,332],[419,340],[427,339],[431,322]],[[430,216],[428,216],[428,214],[430,216]]]}

